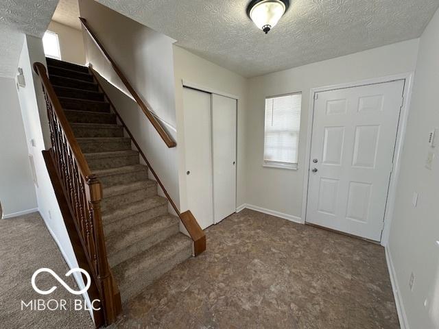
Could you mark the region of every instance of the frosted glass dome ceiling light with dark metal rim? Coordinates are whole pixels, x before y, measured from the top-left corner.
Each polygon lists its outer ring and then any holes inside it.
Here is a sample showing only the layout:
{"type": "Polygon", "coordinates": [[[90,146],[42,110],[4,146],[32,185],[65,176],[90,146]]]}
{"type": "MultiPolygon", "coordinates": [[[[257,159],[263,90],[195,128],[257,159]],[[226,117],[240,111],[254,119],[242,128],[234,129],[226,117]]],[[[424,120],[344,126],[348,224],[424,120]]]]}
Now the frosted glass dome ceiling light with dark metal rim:
{"type": "Polygon", "coordinates": [[[289,0],[252,0],[247,14],[253,23],[268,34],[289,7],[289,0]]]}

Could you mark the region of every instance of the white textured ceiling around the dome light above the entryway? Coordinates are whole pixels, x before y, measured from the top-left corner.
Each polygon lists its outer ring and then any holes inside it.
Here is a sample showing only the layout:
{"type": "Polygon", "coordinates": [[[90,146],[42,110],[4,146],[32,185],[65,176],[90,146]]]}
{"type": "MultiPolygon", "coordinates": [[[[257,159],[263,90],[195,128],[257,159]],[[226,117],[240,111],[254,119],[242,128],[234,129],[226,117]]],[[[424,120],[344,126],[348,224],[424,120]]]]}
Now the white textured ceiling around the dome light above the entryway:
{"type": "Polygon", "coordinates": [[[248,0],[97,0],[246,77],[417,38],[439,0],[292,0],[265,35],[248,0]]]}

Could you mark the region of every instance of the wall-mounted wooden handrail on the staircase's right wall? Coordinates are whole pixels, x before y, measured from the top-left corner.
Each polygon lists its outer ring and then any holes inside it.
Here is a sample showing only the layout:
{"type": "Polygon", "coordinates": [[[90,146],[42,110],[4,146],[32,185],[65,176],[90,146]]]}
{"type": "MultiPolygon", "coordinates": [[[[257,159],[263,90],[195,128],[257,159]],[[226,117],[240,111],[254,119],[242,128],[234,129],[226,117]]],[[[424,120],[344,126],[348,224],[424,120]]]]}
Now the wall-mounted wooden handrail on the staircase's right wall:
{"type": "Polygon", "coordinates": [[[150,122],[152,123],[152,125],[154,126],[154,128],[156,129],[158,134],[161,136],[161,138],[163,139],[163,141],[165,142],[167,147],[176,147],[176,145],[177,145],[176,142],[171,138],[171,136],[169,136],[169,134],[165,131],[165,129],[163,129],[161,124],[158,123],[158,121],[156,120],[154,115],[152,115],[150,109],[147,108],[147,106],[142,101],[139,94],[137,94],[136,90],[134,90],[134,88],[131,86],[130,82],[128,82],[127,77],[122,73],[119,66],[117,66],[116,62],[111,58],[108,51],[106,51],[104,45],[102,45],[102,42],[99,41],[99,38],[97,38],[96,34],[92,31],[92,29],[91,29],[90,25],[88,25],[86,19],[83,19],[82,17],[80,17],[80,21],[81,21],[82,25],[84,26],[84,28],[86,29],[86,32],[88,32],[88,35],[91,36],[92,40],[95,42],[97,48],[102,52],[102,54],[104,55],[106,60],[112,66],[112,69],[114,69],[115,72],[117,73],[117,75],[119,75],[119,78],[121,79],[123,84],[126,86],[126,88],[130,92],[132,97],[134,97],[134,100],[140,106],[143,113],[145,113],[148,120],[150,120],[150,122]]]}

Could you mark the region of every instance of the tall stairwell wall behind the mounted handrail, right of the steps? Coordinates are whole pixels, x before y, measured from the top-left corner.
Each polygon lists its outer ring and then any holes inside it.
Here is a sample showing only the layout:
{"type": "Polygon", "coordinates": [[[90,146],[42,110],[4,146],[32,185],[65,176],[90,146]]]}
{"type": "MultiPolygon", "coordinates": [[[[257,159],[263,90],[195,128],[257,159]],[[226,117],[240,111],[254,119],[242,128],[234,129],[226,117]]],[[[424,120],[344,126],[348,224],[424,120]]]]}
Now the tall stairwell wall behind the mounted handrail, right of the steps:
{"type": "MultiPolygon", "coordinates": [[[[92,0],[81,0],[80,12],[134,89],[176,140],[174,40],[92,0]]],[[[110,84],[130,95],[86,32],[84,40],[87,62],[110,84]]],[[[178,206],[178,145],[169,149],[139,106],[113,91],[110,97],[123,121],[178,206]]]]}

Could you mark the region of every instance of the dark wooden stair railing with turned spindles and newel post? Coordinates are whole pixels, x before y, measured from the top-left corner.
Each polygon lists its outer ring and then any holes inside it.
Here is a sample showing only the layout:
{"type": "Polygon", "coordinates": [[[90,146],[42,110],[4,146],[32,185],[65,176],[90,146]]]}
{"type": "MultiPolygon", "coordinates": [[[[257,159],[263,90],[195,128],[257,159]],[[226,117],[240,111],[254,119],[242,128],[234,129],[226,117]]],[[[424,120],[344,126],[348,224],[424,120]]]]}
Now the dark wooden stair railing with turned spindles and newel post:
{"type": "Polygon", "coordinates": [[[108,325],[119,315],[121,301],[120,295],[116,293],[117,285],[107,260],[101,214],[102,186],[88,168],[45,66],[36,62],[34,71],[43,85],[49,119],[51,156],[92,271],[89,274],[97,282],[104,321],[108,325]]]}

